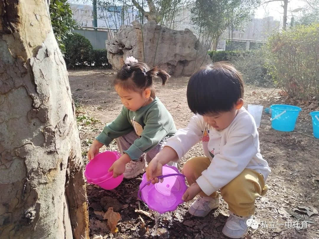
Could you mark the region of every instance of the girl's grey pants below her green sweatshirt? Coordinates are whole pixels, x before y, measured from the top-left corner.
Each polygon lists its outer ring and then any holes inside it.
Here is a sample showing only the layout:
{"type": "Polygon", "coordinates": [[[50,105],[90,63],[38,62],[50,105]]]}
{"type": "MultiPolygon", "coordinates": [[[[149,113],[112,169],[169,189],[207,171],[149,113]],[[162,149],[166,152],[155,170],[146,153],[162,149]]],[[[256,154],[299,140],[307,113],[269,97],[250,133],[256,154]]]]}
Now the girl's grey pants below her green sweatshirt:
{"type": "MultiPolygon", "coordinates": [[[[127,150],[128,148],[130,148],[130,146],[134,143],[134,141],[136,139],[138,139],[139,137],[137,136],[137,134],[135,133],[135,131],[131,131],[128,134],[125,134],[121,137],[118,137],[116,139],[116,143],[117,143],[117,147],[120,150],[120,153],[123,155],[123,151],[127,150]]],[[[151,160],[155,157],[155,155],[162,150],[162,148],[164,147],[164,143],[167,141],[168,136],[165,137],[162,141],[159,142],[158,145],[155,146],[155,148],[152,148],[150,151],[148,151],[147,153],[144,153],[141,157],[140,160],[144,161],[145,157],[146,157],[146,162],[149,163],[151,162],[151,160]]],[[[173,162],[169,162],[167,163],[168,165],[173,165],[173,162]]],[[[175,165],[174,165],[175,166],[175,165]]]]}

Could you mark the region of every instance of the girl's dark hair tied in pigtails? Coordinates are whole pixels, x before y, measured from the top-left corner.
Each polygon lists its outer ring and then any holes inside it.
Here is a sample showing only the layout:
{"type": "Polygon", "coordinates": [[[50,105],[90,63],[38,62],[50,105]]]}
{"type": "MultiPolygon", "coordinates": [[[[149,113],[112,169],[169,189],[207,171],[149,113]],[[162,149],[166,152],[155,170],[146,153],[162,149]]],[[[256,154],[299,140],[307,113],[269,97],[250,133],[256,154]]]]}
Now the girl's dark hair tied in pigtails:
{"type": "Polygon", "coordinates": [[[144,62],[129,62],[122,66],[117,72],[114,85],[119,85],[126,91],[142,91],[145,88],[151,88],[151,97],[155,97],[155,89],[153,87],[154,78],[162,79],[162,85],[170,77],[164,69],[150,67],[144,62]]]}

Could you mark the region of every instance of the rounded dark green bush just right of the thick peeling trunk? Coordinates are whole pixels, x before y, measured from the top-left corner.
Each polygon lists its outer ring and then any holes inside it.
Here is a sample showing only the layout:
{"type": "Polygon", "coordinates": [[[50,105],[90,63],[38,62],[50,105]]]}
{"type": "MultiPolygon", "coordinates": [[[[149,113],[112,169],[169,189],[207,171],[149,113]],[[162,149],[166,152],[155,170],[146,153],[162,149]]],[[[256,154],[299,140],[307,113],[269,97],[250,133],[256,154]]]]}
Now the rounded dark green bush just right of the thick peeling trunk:
{"type": "Polygon", "coordinates": [[[93,47],[91,42],[81,34],[69,35],[65,41],[65,50],[67,68],[91,66],[93,47]]]}

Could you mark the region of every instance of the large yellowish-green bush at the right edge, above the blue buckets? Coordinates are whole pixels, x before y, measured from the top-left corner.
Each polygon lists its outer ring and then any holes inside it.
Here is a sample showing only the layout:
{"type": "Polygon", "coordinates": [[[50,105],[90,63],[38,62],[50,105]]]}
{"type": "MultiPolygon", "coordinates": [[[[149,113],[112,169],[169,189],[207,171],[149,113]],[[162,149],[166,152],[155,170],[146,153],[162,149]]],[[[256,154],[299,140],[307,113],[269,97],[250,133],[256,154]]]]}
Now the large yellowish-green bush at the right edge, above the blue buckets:
{"type": "Polygon", "coordinates": [[[273,35],[267,69],[290,97],[319,99],[319,23],[273,35]]]}

